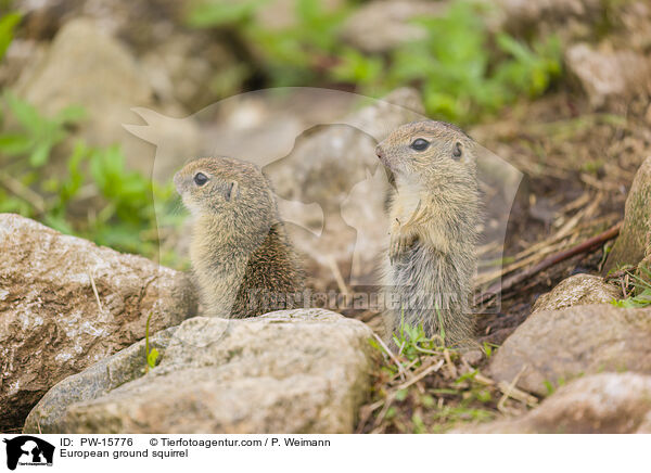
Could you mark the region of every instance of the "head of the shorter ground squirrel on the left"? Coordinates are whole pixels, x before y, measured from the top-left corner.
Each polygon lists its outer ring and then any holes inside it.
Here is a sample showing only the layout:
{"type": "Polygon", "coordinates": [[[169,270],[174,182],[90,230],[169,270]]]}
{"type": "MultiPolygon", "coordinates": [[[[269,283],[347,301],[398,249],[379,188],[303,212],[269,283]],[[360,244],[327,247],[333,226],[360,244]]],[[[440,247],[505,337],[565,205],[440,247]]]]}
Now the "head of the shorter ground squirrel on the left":
{"type": "Polygon", "coordinates": [[[277,215],[269,182],[251,163],[230,157],[202,157],[174,176],[183,204],[197,217],[265,231],[277,215]]]}

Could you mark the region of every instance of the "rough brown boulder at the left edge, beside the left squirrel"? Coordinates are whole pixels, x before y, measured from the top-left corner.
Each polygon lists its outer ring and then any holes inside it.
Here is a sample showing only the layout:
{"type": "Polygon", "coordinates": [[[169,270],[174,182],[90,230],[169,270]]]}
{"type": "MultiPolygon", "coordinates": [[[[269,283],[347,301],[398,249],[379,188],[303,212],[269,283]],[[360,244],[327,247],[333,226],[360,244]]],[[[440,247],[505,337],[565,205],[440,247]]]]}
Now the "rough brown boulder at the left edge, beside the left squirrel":
{"type": "Polygon", "coordinates": [[[196,312],[188,279],[0,214],[0,431],[59,381],[196,312]],[[97,291],[97,295],[95,295],[97,291]]]}

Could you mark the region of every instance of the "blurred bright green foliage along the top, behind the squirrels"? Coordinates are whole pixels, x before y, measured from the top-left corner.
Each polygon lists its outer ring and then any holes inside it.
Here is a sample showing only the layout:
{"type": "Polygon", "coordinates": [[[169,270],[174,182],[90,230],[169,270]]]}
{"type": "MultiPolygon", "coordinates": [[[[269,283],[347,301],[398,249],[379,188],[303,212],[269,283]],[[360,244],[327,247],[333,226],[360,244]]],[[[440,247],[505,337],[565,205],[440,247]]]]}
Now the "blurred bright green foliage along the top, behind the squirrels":
{"type": "MultiPolygon", "coordinates": [[[[520,99],[544,93],[561,75],[557,38],[532,43],[486,29],[486,7],[455,0],[441,17],[414,20],[424,39],[400,44],[388,54],[363,53],[339,39],[355,3],[324,11],[318,0],[296,0],[294,25],[266,28],[256,21],[264,0],[206,0],[191,10],[196,28],[226,29],[253,51],[267,86],[352,85],[380,97],[414,86],[427,114],[461,124],[475,123],[520,99]]],[[[251,69],[253,75],[256,71],[251,69]]]]}

